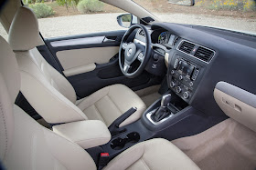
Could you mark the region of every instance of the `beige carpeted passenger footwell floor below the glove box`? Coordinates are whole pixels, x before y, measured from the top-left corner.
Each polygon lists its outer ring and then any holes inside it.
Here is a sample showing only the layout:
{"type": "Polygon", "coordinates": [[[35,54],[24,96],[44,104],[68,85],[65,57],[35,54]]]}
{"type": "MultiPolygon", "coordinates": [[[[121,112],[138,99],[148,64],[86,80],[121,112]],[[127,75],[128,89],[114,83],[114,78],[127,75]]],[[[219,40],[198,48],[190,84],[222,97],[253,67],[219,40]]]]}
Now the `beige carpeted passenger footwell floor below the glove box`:
{"type": "Polygon", "coordinates": [[[201,169],[256,169],[256,133],[233,119],[172,141],[201,169]]]}

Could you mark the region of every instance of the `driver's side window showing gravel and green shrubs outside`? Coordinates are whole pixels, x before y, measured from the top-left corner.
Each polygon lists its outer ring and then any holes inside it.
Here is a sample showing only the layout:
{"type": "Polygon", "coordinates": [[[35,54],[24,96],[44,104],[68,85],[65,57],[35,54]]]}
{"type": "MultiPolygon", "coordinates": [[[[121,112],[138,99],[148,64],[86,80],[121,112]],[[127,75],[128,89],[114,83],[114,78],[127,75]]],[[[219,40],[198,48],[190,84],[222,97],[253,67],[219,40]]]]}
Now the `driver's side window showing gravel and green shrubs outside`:
{"type": "Polygon", "coordinates": [[[116,20],[125,12],[99,0],[51,1],[23,0],[37,15],[45,38],[125,29],[116,20]]]}

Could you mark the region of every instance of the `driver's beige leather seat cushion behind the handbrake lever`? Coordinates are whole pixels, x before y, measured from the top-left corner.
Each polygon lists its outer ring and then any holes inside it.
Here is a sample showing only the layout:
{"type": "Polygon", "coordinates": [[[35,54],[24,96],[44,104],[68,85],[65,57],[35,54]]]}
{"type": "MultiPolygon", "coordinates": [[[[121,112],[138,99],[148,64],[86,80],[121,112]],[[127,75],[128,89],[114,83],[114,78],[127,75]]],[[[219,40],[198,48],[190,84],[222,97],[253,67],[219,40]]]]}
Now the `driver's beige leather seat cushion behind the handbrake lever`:
{"type": "Polygon", "coordinates": [[[88,119],[101,120],[107,126],[131,107],[137,107],[137,111],[120,126],[131,124],[141,117],[146,108],[142,99],[125,85],[110,85],[101,88],[78,102],[78,107],[88,119]]]}

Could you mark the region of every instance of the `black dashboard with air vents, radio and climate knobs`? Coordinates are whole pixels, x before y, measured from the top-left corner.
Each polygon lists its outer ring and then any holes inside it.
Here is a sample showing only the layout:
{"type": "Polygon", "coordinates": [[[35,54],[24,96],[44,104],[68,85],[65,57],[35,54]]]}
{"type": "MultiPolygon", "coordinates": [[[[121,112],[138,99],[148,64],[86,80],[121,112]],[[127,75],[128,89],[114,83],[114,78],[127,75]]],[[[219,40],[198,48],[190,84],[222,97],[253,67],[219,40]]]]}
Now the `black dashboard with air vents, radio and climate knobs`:
{"type": "MultiPolygon", "coordinates": [[[[213,97],[219,81],[256,94],[256,37],[195,25],[148,27],[152,48],[167,57],[167,83],[187,104],[207,115],[223,115],[213,97]]],[[[135,39],[144,42],[138,31],[135,39]],[[140,35],[140,36],[137,36],[140,35]]]]}

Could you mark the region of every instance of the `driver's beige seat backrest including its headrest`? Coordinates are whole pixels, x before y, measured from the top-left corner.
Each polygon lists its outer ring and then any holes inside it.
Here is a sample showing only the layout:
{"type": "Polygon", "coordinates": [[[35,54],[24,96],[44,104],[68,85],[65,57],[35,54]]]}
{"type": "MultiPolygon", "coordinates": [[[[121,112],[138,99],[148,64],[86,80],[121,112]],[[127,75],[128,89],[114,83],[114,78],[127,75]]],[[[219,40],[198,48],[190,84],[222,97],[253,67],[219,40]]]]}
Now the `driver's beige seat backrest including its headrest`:
{"type": "Polygon", "coordinates": [[[72,85],[38,52],[39,38],[37,16],[21,6],[10,26],[8,41],[19,65],[22,94],[48,123],[86,120],[86,115],[75,105],[72,85]]]}

